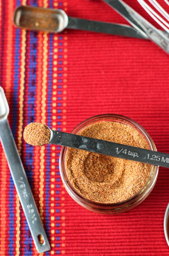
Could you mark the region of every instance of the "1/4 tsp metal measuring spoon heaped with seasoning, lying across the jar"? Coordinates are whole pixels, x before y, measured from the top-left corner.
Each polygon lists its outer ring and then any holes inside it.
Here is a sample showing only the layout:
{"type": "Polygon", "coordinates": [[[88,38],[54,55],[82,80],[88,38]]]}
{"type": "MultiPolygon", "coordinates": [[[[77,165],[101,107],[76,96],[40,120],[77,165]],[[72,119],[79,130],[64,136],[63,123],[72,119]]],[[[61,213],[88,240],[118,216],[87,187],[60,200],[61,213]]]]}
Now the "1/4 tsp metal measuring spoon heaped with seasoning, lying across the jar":
{"type": "Polygon", "coordinates": [[[34,122],[28,124],[23,135],[25,141],[34,146],[43,146],[49,143],[169,168],[169,154],[51,130],[48,126],[41,123],[34,122]]]}

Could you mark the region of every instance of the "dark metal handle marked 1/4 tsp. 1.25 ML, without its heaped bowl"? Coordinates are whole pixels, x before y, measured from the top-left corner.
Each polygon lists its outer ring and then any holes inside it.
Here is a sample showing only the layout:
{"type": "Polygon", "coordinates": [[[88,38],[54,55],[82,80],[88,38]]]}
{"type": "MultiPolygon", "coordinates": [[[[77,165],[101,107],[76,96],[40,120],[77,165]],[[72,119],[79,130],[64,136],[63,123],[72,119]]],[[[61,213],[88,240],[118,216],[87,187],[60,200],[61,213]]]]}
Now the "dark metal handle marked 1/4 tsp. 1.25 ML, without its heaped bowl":
{"type": "Polygon", "coordinates": [[[169,154],[51,130],[49,144],[77,148],[98,154],[169,168],[169,154]]]}

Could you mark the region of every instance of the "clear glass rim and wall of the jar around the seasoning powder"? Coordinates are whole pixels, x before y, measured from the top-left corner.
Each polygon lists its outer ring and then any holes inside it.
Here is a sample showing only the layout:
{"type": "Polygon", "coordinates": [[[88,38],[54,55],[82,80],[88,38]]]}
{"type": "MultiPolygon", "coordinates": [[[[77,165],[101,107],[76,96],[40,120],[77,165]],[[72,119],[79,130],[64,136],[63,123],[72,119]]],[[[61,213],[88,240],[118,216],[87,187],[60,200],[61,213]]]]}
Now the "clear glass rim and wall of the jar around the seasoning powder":
{"type": "MultiPolygon", "coordinates": [[[[92,125],[93,123],[100,122],[100,121],[113,121],[113,122],[121,122],[128,126],[131,126],[135,130],[137,130],[142,137],[145,139],[147,144],[149,145],[150,150],[156,150],[155,144],[150,137],[150,135],[147,133],[147,131],[137,122],[134,120],[117,114],[102,114],[93,116],[91,118],[86,119],[85,121],[81,122],[79,125],[77,125],[72,133],[73,134],[79,134],[81,130],[86,128],[89,125],[92,125]]],[[[77,192],[77,190],[72,186],[70,183],[68,176],[66,174],[66,153],[67,153],[68,147],[62,147],[60,158],[59,158],[59,169],[61,174],[62,182],[65,186],[65,189],[69,193],[69,195],[81,206],[85,207],[88,210],[91,210],[96,213],[104,213],[104,214],[115,214],[115,213],[122,213],[124,211],[130,210],[143,202],[143,200],[150,194],[151,190],[153,189],[155,182],[157,180],[158,176],[158,170],[159,166],[152,166],[151,167],[151,173],[150,176],[143,186],[143,188],[136,193],[134,196],[130,197],[127,200],[124,200],[122,202],[118,203],[98,203],[94,202],[92,200],[89,200],[88,198],[85,198],[81,194],[77,192]]]]}

